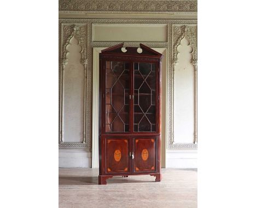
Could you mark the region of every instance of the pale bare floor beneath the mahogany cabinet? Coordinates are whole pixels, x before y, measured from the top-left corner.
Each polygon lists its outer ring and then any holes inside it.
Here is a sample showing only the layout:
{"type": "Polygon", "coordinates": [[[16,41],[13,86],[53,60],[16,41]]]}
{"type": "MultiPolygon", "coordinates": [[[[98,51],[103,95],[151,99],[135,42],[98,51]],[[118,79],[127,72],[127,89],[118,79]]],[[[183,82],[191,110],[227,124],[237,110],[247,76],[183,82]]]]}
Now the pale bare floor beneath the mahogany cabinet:
{"type": "Polygon", "coordinates": [[[162,169],[161,182],[140,175],[98,185],[98,169],[60,168],[59,207],[197,207],[197,169],[162,169]]]}

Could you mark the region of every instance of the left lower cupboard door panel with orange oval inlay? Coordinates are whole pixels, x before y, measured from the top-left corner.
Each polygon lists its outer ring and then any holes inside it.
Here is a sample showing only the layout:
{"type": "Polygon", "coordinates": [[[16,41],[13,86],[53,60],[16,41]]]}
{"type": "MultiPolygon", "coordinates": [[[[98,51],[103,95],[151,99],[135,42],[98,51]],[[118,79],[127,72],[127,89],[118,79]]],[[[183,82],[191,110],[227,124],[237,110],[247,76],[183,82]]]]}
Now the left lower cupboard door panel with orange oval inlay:
{"type": "Polygon", "coordinates": [[[129,172],[129,139],[106,139],[106,172],[128,173],[129,172]]]}

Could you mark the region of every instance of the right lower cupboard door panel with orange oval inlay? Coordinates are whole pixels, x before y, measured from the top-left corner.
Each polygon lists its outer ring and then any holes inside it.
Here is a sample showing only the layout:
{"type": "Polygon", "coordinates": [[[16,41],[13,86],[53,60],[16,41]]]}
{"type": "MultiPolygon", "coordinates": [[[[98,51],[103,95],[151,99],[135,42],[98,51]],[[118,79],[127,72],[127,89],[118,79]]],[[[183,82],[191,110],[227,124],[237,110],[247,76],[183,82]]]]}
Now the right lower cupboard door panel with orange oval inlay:
{"type": "Polygon", "coordinates": [[[156,170],[156,138],[135,138],[135,173],[156,170]]]}

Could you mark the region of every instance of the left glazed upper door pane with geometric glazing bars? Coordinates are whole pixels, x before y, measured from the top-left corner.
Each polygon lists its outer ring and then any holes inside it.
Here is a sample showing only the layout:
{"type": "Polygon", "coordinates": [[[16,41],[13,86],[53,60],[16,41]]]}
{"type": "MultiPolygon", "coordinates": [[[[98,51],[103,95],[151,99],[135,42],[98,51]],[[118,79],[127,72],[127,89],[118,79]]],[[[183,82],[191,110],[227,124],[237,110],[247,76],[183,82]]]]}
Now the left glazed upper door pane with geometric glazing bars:
{"type": "Polygon", "coordinates": [[[106,132],[129,132],[130,63],[106,62],[106,132]]]}

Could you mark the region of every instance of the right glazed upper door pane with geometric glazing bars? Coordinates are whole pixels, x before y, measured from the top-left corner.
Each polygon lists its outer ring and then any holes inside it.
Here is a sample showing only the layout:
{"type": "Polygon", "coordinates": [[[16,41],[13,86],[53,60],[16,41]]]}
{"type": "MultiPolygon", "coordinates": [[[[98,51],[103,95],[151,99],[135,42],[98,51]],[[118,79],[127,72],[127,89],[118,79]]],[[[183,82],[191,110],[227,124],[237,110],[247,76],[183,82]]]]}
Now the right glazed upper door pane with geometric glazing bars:
{"type": "Polygon", "coordinates": [[[155,64],[134,63],[134,131],[155,131],[155,64]]]}

